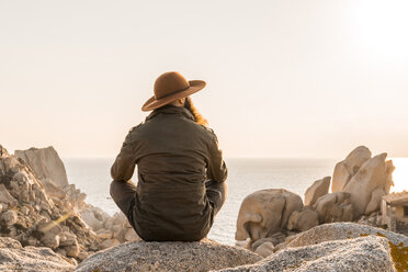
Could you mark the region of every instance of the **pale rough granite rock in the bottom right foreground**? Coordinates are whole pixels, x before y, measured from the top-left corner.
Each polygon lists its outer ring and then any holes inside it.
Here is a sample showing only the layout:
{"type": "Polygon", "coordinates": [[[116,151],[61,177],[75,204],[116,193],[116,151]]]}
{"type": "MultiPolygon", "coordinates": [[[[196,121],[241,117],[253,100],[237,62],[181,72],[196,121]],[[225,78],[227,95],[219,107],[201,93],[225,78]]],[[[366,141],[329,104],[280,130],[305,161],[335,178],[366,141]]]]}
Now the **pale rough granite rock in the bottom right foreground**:
{"type": "Polygon", "coordinates": [[[274,253],[252,265],[242,265],[219,272],[264,271],[377,271],[394,272],[387,239],[359,237],[349,240],[326,241],[318,245],[290,248],[274,253]]]}

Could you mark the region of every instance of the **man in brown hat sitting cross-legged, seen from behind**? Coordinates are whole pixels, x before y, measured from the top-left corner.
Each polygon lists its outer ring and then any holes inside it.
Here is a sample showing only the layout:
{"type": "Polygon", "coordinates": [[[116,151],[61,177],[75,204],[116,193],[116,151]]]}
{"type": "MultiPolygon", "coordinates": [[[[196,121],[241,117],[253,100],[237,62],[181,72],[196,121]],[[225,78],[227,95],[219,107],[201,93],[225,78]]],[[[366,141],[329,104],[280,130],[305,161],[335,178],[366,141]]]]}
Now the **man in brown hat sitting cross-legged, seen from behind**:
{"type": "Polygon", "coordinates": [[[200,240],[225,202],[227,167],[217,137],[189,98],[204,87],[179,72],[161,75],[141,107],[152,112],[131,129],[112,166],[112,199],[144,240],[200,240]],[[136,165],[137,186],[131,181],[136,165]]]}

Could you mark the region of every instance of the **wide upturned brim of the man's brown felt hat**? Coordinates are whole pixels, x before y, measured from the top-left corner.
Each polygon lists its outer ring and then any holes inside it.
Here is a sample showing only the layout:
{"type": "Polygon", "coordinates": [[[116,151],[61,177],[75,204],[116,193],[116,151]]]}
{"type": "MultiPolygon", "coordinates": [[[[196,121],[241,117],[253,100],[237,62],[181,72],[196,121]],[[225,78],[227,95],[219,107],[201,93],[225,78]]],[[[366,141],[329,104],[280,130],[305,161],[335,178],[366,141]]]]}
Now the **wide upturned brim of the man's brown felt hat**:
{"type": "Polygon", "coordinates": [[[205,87],[205,81],[203,80],[190,80],[189,81],[190,87],[185,90],[171,93],[170,95],[167,95],[161,99],[156,99],[155,97],[151,97],[149,100],[146,101],[146,103],[141,106],[141,111],[149,112],[152,110],[156,110],[160,106],[163,106],[174,100],[186,98],[201,89],[205,87]]]}

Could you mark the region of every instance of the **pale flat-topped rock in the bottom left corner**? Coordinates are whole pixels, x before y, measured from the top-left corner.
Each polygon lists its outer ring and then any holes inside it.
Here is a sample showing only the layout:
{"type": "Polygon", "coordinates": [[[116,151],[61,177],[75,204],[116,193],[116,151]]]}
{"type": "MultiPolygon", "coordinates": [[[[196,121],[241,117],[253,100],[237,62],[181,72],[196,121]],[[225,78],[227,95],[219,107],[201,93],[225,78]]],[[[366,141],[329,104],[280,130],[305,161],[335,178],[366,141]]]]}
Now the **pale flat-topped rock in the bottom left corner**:
{"type": "Polygon", "coordinates": [[[0,271],[68,272],[75,267],[49,248],[25,247],[14,239],[0,237],[0,271]]]}

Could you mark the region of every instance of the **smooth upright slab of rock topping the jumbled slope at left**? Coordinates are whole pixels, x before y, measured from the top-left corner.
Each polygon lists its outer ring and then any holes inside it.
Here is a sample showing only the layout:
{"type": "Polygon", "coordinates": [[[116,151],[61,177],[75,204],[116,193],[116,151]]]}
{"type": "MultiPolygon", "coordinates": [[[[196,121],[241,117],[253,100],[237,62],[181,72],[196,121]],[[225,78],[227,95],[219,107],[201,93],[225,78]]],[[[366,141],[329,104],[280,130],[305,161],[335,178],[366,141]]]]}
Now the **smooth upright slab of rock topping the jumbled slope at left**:
{"type": "Polygon", "coordinates": [[[59,188],[68,185],[67,171],[54,147],[15,150],[14,155],[23,159],[42,182],[59,188]]]}

